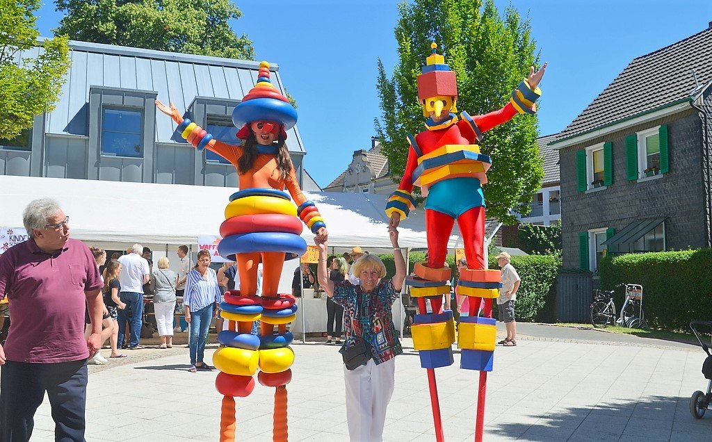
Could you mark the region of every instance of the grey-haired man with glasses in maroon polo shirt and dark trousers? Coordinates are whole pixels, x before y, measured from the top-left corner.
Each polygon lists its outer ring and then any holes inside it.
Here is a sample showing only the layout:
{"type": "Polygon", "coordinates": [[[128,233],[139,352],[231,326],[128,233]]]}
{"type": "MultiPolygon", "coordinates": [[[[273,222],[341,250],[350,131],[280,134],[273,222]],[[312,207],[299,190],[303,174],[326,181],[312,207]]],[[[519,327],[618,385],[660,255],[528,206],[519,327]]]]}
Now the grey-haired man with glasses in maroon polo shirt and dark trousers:
{"type": "Polygon", "coordinates": [[[32,201],[23,223],[30,238],[0,256],[0,299],[12,304],[0,346],[0,440],[29,440],[46,391],[56,440],[84,441],[86,361],[101,345],[101,275],[89,248],[69,238],[69,217],[56,201],[32,201]]]}

